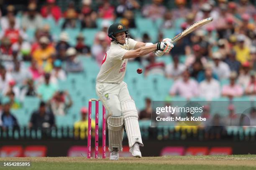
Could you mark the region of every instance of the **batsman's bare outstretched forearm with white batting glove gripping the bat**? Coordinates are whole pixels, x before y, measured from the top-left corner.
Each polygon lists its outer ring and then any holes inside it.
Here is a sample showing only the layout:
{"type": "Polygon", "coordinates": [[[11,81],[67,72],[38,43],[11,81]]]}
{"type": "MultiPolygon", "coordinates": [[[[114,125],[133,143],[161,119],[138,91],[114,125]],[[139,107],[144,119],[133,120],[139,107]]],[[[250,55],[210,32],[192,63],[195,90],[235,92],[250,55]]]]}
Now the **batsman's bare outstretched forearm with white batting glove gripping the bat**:
{"type": "Polygon", "coordinates": [[[161,50],[165,53],[168,53],[170,52],[172,47],[173,45],[170,42],[158,42],[157,44],[154,44],[154,45],[140,47],[136,50],[130,50],[125,53],[125,55],[123,56],[123,59],[136,58],[139,56],[147,55],[150,52],[154,52],[155,50],[161,50]]]}

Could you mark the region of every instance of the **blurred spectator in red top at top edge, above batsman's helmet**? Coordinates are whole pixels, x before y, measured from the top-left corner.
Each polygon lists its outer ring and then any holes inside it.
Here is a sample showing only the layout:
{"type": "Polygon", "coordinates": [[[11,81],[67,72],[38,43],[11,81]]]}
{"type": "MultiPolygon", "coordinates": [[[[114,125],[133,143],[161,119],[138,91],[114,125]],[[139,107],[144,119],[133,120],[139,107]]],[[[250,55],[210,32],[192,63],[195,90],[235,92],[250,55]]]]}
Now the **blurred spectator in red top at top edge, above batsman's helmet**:
{"type": "Polygon", "coordinates": [[[108,0],[104,0],[102,6],[99,8],[100,18],[105,20],[114,20],[115,19],[115,7],[113,7],[108,0]]]}

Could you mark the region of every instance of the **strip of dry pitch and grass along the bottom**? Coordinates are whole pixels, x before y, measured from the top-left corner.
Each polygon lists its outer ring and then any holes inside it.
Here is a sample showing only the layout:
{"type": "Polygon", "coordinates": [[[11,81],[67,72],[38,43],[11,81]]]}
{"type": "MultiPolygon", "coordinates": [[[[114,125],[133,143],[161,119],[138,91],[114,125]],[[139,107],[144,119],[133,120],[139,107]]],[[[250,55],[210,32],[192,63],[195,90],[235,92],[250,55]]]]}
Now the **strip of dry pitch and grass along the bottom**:
{"type": "Polygon", "coordinates": [[[168,156],[87,159],[83,157],[0,158],[1,170],[256,170],[256,155],[168,156]],[[30,162],[31,167],[3,167],[3,162],[30,162]]]}

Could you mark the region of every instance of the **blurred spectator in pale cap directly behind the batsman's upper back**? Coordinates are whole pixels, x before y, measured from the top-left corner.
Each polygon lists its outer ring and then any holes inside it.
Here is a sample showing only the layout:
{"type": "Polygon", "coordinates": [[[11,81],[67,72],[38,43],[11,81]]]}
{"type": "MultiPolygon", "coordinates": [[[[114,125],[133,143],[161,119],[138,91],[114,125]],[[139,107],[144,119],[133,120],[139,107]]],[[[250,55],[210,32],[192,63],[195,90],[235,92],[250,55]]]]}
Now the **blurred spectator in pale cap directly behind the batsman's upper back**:
{"type": "Polygon", "coordinates": [[[108,50],[107,48],[109,47],[109,44],[105,41],[107,37],[105,32],[99,32],[97,37],[99,41],[97,44],[92,45],[92,56],[95,57],[98,65],[101,65],[105,52],[108,50]]]}

